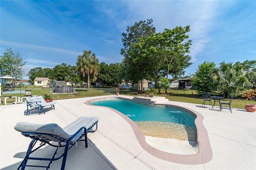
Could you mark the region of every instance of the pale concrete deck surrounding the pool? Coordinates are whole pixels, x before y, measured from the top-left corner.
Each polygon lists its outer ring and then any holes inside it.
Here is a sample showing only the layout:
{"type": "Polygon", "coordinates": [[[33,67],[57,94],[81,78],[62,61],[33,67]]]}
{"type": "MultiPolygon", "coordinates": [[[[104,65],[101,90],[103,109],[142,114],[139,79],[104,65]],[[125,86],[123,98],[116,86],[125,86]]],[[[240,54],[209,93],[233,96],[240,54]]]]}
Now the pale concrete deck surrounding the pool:
{"type": "MultiPolygon", "coordinates": [[[[45,115],[24,116],[25,104],[1,106],[1,169],[17,169],[29,145],[30,139],[13,129],[17,122],[58,123],[65,127],[79,116],[98,116],[99,128],[97,132],[89,133],[89,148],[85,149],[81,142],[69,151],[66,169],[256,168],[255,113],[233,109],[231,114],[228,109],[218,112],[218,108],[209,109],[202,108],[201,105],[165,101],[166,104],[193,109],[204,116],[203,124],[209,135],[212,159],[204,164],[185,165],[167,162],[149,154],[140,146],[131,125],[124,118],[110,109],[84,104],[86,100],[94,98],[102,97],[57,100],[56,109],[46,112],[45,115]]],[[[39,151],[41,156],[48,156],[52,148],[46,146],[39,151]]],[[[43,163],[38,162],[39,164],[43,163]]],[[[59,169],[60,164],[61,159],[53,162],[50,169],[59,169]]]]}

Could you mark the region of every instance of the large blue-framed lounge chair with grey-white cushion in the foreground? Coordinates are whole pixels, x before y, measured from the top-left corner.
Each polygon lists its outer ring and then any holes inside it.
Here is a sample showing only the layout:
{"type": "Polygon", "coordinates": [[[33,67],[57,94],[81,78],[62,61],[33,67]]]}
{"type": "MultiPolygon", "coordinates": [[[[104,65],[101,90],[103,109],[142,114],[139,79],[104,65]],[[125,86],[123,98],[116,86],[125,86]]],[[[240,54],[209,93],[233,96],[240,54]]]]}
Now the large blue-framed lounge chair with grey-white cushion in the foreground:
{"type": "Polygon", "coordinates": [[[34,123],[25,123],[19,122],[14,126],[14,129],[21,132],[25,137],[33,139],[30,142],[27,153],[23,161],[21,162],[18,169],[25,169],[25,167],[41,167],[49,169],[51,163],[54,160],[58,160],[63,157],[61,170],[65,169],[66,159],[68,150],[76,145],[78,141],[85,141],[85,148],[88,147],[87,143],[87,133],[95,132],[98,129],[98,117],[79,117],[75,122],[66,126],[66,128],[60,128],[58,124],[34,124],[34,123]],[[96,125],[95,130],[93,126],[96,125]],[[84,139],[82,139],[84,138],[84,139]],[[36,147],[34,150],[36,142],[39,141],[41,144],[36,147]],[[52,158],[39,158],[39,157],[30,157],[29,155],[35,150],[41,148],[44,145],[50,145],[56,147],[56,150],[52,158]],[[60,147],[65,147],[63,154],[55,158],[57,151],[60,147]],[[28,160],[44,160],[49,161],[47,166],[38,166],[38,165],[27,165],[28,160]]]}

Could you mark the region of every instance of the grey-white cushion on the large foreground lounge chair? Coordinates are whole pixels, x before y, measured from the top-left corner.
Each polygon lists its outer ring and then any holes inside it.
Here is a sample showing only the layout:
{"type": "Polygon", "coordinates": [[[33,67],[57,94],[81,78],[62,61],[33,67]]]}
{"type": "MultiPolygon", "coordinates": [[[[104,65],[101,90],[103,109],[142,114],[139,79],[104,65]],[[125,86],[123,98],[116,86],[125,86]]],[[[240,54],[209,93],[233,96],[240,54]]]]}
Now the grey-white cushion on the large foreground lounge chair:
{"type": "MultiPolygon", "coordinates": [[[[58,124],[35,124],[19,122],[14,126],[14,129],[19,132],[37,132],[37,133],[49,133],[57,135],[63,139],[68,140],[73,134],[75,134],[80,128],[90,128],[95,122],[99,120],[98,117],[79,117],[76,121],[69,124],[65,128],[60,128],[58,124]]],[[[71,142],[75,142],[84,131],[79,132],[71,142]]]]}

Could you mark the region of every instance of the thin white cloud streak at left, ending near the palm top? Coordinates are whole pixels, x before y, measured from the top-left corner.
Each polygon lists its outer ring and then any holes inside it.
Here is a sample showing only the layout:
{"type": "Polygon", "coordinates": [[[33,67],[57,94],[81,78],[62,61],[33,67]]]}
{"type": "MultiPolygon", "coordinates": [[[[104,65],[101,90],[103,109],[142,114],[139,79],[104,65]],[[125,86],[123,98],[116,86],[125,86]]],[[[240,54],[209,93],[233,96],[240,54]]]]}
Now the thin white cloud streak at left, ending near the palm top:
{"type": "Polygon", "coordinates": [[[1,40],[1,44],[6,45],[6,46],[48,50],[48,51],[52,51],[52,52],[65,53],[65,54],[71,54],[71,55],[80,55],[81,54],[81,53],[73,51],[73,50],[67,50],[67,49],[55,48],[55,47],[39,46],[39,45],[26,44],[26,43],[16,43],[16,42],[6,41],[6,40],[1,40]]]}

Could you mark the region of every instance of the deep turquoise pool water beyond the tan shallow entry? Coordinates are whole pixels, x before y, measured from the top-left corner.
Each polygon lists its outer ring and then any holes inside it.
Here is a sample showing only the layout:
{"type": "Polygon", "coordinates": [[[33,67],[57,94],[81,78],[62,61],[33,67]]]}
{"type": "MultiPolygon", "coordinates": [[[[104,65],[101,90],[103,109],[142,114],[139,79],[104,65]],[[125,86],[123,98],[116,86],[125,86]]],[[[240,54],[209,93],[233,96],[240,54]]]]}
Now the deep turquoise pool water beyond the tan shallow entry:
{"type": "Polygon", "coordinates": [[[177,107],[141,105],[124,99],[96,100],[90,104],[114,108],[133,121],[171,122],[195,127],[195,117],[177,107]]]}

